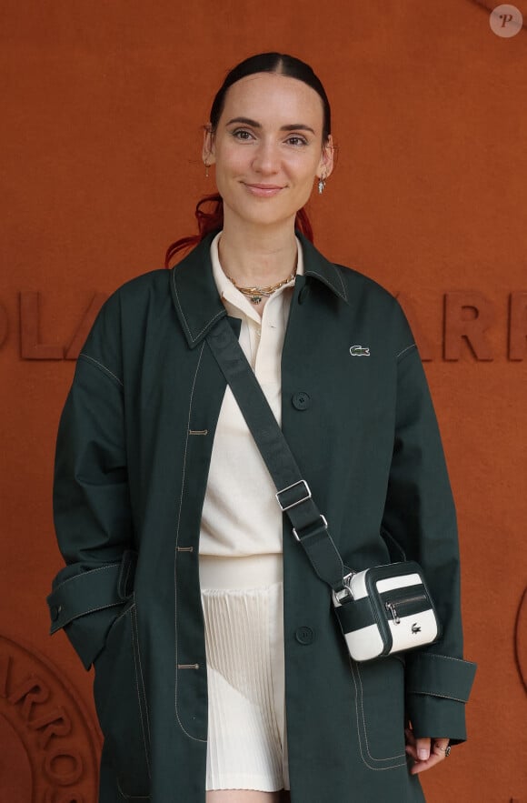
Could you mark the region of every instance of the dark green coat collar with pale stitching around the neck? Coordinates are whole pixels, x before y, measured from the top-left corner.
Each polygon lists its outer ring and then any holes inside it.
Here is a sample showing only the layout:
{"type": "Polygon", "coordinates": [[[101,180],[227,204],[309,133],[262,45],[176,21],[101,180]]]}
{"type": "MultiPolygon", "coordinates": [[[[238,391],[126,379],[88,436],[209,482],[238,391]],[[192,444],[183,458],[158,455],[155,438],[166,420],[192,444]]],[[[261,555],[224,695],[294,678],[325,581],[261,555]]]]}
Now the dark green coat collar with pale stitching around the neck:
{"type": "MultiPolygon", "coordinates": [[[[175,311],[191,348],[201,343],[216,321],[227,314],[216,289],[211,264],[210,248],[215,234],[213,232],[204,237],[170,271],[175,311]]],[[[318,279],[347,303],[346,288],[337,267],[328,262],[302,234],[296,234],[303,248],[304,276],[318,279]]]]}

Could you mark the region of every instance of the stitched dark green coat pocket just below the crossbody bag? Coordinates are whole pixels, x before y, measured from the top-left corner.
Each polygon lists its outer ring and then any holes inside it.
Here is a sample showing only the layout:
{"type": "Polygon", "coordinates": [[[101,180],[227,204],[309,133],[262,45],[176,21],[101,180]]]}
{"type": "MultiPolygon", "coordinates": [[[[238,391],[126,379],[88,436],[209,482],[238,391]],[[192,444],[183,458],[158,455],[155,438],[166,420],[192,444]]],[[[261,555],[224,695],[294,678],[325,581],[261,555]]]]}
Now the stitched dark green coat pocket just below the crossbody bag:
{"type": "Polygon", "coordinates": [[[370,769],[406,765],[404,665],[396,657],[358,664],[350,660],[359,748],[370,769]]]}

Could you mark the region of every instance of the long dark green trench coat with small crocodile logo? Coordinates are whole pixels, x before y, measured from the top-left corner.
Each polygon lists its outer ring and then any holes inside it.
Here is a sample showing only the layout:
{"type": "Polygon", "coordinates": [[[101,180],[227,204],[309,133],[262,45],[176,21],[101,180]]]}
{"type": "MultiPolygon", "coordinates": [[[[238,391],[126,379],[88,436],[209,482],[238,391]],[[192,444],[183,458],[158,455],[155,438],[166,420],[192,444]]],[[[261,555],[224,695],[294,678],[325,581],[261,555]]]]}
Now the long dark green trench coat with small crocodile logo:
{"type": "MultiPolygon", "coordinates": [[[[52,631],[65,627],[95,667],[101,803],[205,799],[198,540],[225,383],[204,338],[226,315],[210,239],[107,301],[60,424],[55,526],[66,567],[48,602],[52,631]]],[[[474,670],[462,660],[442,446],[400,306],[305,240],[303,252],[283,346],[283,433],[344,563],[386,563],[402,547],[423,565],[443,635],[405,658],[351,662],[328,587],[284,521],[292,801],[420,801],[404,722],[417,736],[464,739],[474,670]],[[352,346],[370,356],[353,356],[352,346]]]]}

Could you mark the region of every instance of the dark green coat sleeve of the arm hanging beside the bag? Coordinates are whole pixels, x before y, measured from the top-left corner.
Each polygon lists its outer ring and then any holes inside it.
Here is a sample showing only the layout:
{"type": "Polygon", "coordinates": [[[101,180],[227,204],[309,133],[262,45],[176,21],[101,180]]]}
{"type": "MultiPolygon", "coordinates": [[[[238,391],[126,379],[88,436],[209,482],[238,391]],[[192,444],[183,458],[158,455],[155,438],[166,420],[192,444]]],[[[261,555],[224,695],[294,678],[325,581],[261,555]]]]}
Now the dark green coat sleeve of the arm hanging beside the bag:
{"type": "Polygon", "coordinates": [[[466,738],[475,665],[462,658],[459,547],[433,403],[415,346],[397,357],[393,460],[383,527],[423,567],[441,640],[406,654],[406,706],[416,737],[466,738]]]}

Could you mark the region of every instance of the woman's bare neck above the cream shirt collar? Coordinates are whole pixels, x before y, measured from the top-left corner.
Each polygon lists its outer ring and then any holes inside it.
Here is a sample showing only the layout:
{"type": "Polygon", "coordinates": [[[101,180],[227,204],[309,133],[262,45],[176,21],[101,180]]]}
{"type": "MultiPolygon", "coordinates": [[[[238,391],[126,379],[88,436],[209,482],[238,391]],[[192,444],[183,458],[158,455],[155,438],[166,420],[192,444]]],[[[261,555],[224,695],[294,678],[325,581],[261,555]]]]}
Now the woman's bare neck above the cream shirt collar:
{"type": "Polygon", "coordinates": [[[238,286],[269,286],[290,276],[296,267],[297,249],[293,226],[263,231],[229,226],[224,222],[219,242],[224,273],[238,286]]]}

